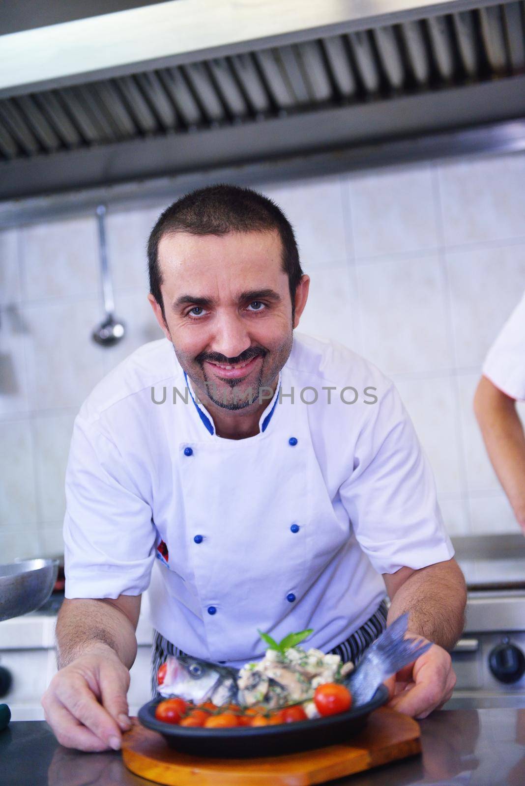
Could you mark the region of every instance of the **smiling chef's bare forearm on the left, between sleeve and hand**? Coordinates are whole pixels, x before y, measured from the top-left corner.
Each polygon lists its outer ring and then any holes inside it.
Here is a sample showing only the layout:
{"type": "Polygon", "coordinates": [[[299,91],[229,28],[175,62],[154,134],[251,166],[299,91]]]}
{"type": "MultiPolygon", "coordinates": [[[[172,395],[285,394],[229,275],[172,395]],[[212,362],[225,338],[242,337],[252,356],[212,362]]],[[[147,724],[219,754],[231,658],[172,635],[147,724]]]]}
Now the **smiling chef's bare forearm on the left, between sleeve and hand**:
{"type": "Polygon", "coordinates": [[[134,625],[110,601],[66,599],[57,618],[56,637],[59,668],[104,647],[116,652],[128,669],[137,655],[134,625]]]}

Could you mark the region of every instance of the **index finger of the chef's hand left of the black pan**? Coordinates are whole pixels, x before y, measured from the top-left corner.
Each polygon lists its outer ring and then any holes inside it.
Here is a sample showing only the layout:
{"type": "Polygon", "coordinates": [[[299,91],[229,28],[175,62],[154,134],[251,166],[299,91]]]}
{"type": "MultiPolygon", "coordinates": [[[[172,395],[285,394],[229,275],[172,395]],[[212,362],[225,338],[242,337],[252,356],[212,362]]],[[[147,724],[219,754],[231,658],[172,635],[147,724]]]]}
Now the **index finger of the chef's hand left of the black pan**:
{"type": "Polygon", "coordinates": [[[108,747],[112,747],[114,751],[119,750],[121,742],[119,725],[97,702],[82,677],[75,674],[70,675],[67,681],[57,682],[55,694],[74,718],[103,740],[108,747]]]}

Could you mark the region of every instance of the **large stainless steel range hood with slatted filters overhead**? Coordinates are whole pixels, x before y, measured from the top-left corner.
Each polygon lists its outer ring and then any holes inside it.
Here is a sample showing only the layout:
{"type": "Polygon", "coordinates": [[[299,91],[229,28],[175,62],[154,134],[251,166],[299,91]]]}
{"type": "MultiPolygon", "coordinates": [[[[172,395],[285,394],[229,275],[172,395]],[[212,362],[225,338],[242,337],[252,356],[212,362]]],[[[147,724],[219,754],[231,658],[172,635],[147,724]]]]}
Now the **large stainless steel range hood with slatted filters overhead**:
{"type": "Polygon", "coordinates": [[[463,129],[523,149],[524,42],[525,2],[484,0],[174,0],[3,35],[0,199],[444,155],[463,129]]]}

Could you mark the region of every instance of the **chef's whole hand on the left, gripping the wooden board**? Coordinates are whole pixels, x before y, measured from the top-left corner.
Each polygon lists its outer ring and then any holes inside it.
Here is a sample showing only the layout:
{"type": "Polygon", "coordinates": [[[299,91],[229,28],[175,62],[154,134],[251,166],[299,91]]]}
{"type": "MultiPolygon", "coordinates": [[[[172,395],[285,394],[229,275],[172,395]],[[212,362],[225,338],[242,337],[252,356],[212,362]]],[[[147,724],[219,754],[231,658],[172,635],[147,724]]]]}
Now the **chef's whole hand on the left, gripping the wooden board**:
{"type": "Polygon", "coordinates": [[[42,696],[46,721],[57,740],[80,751],[118,750],[131,728],[130,673],[112,648],[92,645],[55,674],[42,696]]]}

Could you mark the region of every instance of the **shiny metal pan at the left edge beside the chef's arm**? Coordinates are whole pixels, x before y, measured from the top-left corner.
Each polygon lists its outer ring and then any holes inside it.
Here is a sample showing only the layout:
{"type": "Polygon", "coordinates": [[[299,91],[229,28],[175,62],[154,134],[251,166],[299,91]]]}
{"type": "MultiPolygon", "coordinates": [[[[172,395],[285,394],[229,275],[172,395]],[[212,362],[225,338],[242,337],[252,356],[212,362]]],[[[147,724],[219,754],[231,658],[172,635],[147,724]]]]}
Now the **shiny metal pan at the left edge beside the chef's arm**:
{"type": "Polygon", "coordinates": [[[19,560],[0,565],[0,622],[34,612],[57,579],[57,560],[19,560]]]}

